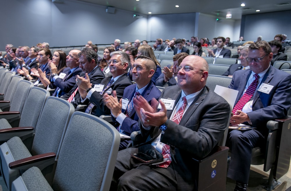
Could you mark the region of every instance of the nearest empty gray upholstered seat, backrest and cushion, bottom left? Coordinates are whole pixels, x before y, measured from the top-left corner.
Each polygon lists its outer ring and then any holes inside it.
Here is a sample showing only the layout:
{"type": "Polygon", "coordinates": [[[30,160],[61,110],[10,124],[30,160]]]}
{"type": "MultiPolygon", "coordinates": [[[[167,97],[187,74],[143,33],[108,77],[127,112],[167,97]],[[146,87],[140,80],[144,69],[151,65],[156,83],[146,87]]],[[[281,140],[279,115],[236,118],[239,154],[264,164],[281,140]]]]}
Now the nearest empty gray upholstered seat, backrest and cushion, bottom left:
{"type": "Polygon", "coordinates": [[[104,120],[75,112],[59,151],[52,188],[36,167],[17,178],[12,190],[109,190],[120,136],[104,120]]]}

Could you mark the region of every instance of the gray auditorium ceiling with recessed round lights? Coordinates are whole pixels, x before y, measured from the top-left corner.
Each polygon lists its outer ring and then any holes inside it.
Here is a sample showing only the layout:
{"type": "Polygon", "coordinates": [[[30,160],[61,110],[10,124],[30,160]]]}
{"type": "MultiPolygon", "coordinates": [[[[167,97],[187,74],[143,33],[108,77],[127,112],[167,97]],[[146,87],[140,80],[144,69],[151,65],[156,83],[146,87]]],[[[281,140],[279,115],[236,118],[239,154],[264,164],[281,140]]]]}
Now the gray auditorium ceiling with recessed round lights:
{"type": "Polygon", "coordinates": [[[289,0],[80,0],[103,6],[132,11],[137,14],[152,15],[174,13],[205,13],[225,17],[231,13],[232,19],[241,19],[242,15],[291,10],[289,0]],[[241,7],[244,3],[246,6],[241,7]],[[179,5],[178,8],[175,5],[179,5]],[[256,12],[259,9],[260,12],[256,12]]]}

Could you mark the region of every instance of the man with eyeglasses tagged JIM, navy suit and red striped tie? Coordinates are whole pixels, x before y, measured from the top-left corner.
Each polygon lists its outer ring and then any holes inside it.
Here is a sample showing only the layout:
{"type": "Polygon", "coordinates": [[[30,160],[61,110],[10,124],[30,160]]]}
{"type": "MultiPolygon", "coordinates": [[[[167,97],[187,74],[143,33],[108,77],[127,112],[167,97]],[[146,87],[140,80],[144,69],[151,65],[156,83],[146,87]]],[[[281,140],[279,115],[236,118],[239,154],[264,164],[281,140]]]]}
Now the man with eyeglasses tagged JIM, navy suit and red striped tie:
{"type": "Polygon", "coordinates": [[[247,190],[253,147],[265,146],[266,124],[288,115],[291,106],[291,75],[270,65],[273,53],[266,41],[249,46],[246,60],[250,70],[233,74],[229,88],[238,90],[230,124],[248,124],[254,129],[229,132],[231,150],[228,177],[236,181],[235,191],[247,190]]]}

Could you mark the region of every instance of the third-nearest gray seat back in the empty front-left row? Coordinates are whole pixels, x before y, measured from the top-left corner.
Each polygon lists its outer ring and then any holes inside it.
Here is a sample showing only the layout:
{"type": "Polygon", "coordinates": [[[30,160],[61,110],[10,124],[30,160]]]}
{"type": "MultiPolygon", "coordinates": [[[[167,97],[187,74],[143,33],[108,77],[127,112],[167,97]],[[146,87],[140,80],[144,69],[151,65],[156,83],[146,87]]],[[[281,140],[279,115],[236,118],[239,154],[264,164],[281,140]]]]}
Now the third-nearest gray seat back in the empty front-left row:
{"type": "Polygon", "coordinates": [[[40,112],[48,97],[47,90],[38,87],[31,88],[23,106],[19,127],[36,128],[40,112]]]}

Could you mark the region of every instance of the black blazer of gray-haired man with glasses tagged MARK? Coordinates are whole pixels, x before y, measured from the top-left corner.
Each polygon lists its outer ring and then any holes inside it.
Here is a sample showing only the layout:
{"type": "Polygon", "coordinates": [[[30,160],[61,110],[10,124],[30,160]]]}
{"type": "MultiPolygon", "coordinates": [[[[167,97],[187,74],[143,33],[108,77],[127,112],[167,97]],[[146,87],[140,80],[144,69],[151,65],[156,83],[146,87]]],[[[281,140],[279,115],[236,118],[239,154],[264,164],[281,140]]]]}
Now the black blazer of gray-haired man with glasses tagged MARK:
{"type": "MultiPolygon", "coordinates": [[[[107,76],[101,81],[101,84],[104,84],[104,88],[109,83],[111,78],[112,76],[107,76]]],[[[127,76],[127,74],[123,74],[122,76],[118,78],[118,80],[116,80],[116,82],[114,82],[107,90],[105,90],[105,92],[110,90],[110,88],[111,88],[111,92],[115,90],[117,98],[118,100],[120,100],[120,98],[123,97],[124,89],[129,85],[132,85],[132,81],[127,76]]],[[[89,101],[96,106],[92,109],[93,115],[100,117],[100,115],[109,115],[111,113],[110,109],[108,109],[107,106],[104,105],[103,95],[101,95],[100,92],[96,92],[96,91],[93,92],[89,101]]]]}

